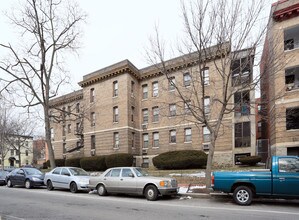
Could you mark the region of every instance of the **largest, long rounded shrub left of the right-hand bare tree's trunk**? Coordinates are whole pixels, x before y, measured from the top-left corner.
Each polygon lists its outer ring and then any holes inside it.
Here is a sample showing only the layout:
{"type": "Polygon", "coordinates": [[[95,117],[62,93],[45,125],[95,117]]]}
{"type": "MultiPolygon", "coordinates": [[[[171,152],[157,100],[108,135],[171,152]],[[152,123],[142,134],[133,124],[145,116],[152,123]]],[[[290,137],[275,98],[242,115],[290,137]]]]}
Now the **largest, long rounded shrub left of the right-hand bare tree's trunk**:
{"type": "Polygon", "coordinates": [[[207,155],[200,150],[169,151],[153,158],[158,169],[193,169],[207,164],[207,155]]]}

